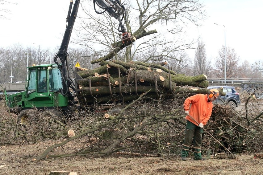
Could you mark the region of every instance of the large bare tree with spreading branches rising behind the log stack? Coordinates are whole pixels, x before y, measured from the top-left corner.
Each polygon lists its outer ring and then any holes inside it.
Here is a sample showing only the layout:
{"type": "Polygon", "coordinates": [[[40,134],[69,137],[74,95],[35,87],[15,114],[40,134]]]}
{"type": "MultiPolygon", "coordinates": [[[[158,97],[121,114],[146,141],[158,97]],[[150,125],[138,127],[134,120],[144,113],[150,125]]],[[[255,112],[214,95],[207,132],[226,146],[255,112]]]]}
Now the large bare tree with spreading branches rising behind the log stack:
{"type": "MultiPolygon", "coordinates": [[[[198,20],[205,17],[202,4],[197,0],[151,0],[151,1],[125,1],[127,15],[126,28],[133,37],[144,34],[147,31],[160,28],[158,35],[144,36],[140,41],[136,40],[136,49],[127,47],[120,54],[125,61],[133,60],[135,55],[148,53],[148,59],[144,61],[173,58],[174,52],[190,48],[193,41],[186,43],[181,34],[187,23],[198,25],[198,20]],[[175,35],[176,34],[176,35],[175,35]],[[169,37],[167,37],[169,36],[169,37]],[[156,47],[158,55],[151,55],[147,50],[156,47]]],[[[93,6],[87,7],[86,2],[81,4],[86,16],[81,17],[76,43],[83,44],[93,51],[94,56],[105,56],[113,51],[112,43],[120,41],[117,30],[119,23],[111,19],[108,14],[94,14],[93,6]]],[[[154,33],[154,32],[153,32],[154,33]]],[[[153,34],[151,33],[151,34],[153,34]]],[[[114,59],[122,59],[115,54],[114,59]]],[[[175,54],[176,55],[176,54],[175,54]]],[[[176,59],[176,58],[173,58],[176,59]]],[[[99,61],[98,61],[99,62],[99,61]]],[[[94,63],[98,63],[94,62],[94,63]]]]}

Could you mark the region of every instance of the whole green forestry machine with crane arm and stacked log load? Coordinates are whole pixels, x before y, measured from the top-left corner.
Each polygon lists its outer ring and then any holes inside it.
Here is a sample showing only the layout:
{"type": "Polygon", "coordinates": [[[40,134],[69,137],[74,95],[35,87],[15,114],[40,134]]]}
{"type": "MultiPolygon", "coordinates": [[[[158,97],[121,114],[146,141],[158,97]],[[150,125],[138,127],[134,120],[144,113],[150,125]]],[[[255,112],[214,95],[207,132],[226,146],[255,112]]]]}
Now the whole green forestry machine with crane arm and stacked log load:
{"type": "MultiPolygon", "coordinates": [[[[125,63],[121,61],[101,61],[97,70],[74,70],[74,77],[69,74],[68,45],[77,17],[80,0],[70,1],[67,15],[67,27],[54,58],[56,64],[41,64],[27,67],[27,85],[23,92],[6,96],[6,103],[18,114],[21,124],[31,119],[30,110],[37,108],[52,113],[53,116],[71,114],[78,109],[95,108],[95,104],[118,104],[132,101],[141,95],[159,98],[159,87],[165,88],[165,95],[173,95],[184,90],[176,84],[207,88],[206,75],[186,77],[166,70],[164,64],[145,64],[141,62],[125,63]],[[112,67],[112,68],[111,68],[112,67]],[[109,69],[111,68],[111,69],[109,69]],[[99,75],[101,74],[101,75],[99,75]],[[124,75],[124,76],[123,76],[124,75]],[[181,77],[180,77],[181,76],[181,77]],[[185,81],[185,84],[181,80],[185,81]],[[187,81],[189,80],[189,81],[187,81]],[[177,91],[177,92],[176,92],[177,91]]],[[[118,31],[123,46],[132,44],[131,35],[126,31],[122,21],[125,20],[125,8],[119,0],[94,0],[94,10],[101,14],[107,12],[119,21],[118,31]],[[103,9],[98,12],[97,5],[103,9]]],[[[201,88],[201,89],[202,89],[201,88]]],[[[186,89],[195,93],[196,88],[186,89]]],[[[208,89],[203,89],[207,93],[208,89]]]]}

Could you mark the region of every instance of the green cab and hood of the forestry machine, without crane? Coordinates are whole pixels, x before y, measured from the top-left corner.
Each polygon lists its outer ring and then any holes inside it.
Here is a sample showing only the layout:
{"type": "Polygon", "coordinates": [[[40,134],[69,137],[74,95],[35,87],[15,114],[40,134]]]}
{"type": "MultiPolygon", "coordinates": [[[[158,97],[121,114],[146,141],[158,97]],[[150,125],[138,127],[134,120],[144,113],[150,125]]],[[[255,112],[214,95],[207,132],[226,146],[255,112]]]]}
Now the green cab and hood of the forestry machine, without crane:
{"type": "Polygon", "coordinates": [[[56,64],[41,64],[27,67],[26,90],[8,96],[8,106],[18,112],[28,108],[63,108],[68,106],[68,97],[62,96],[61,71],[56,64]]]}

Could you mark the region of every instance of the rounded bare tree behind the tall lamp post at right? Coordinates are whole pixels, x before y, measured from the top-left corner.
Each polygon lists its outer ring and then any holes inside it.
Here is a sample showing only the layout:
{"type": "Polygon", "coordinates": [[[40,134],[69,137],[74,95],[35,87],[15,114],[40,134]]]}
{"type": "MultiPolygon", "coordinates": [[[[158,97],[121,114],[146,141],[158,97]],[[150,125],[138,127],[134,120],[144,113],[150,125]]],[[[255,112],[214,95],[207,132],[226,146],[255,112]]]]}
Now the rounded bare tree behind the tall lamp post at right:
{"type": "MultiPolygon", "coordinates": [[[[236,52],[233,48],[226,48],[226,77],[227,78],[239,78],[239,57],[236,55],[236,52]]],[[[214,75],[219,78],[224,77],[224,46],[219,50],[219,57],[215,59],[215,71],[214,75]]]]}

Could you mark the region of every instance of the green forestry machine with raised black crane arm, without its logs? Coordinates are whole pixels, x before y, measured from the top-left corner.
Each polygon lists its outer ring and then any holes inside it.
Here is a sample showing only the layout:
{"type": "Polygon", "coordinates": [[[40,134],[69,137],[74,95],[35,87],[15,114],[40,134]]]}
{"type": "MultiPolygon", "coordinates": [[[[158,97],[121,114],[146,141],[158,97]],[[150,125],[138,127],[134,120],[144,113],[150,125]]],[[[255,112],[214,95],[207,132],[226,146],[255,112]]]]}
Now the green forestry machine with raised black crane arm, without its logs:
{"type": "MultiPolygon", "coordinates": [[[[102,14],[107,12],[111,17],[119,21],[119,32],[122,32],[121,40],[125,46],[131,40],[131,35],[126,31],[122,21],[125,18],[125,8],[119,0],[94,0],[94,10],[102,14]],[[103,9],[98,12],[97,5],[103,9]]],[[[13,112],[19,113],[20,122],[28,118],[28,109],[37,108],[52,110],[57,115],[59,112],[70,113],[75,110],[78,87],[75,80],[69,77],[68,45],[77,17],[80,0],[70,1],[67,15],[67,26],[61,46],[54,58],[56,64],[41,64],[27,67],[28,78],[26,90],[23,92],[6,95],[6,103],[13,112]],[[59,60],[60,59],[60,62],[59,60]]],[[[131,42],[130,42],[131,43],[131,42]]]]}

